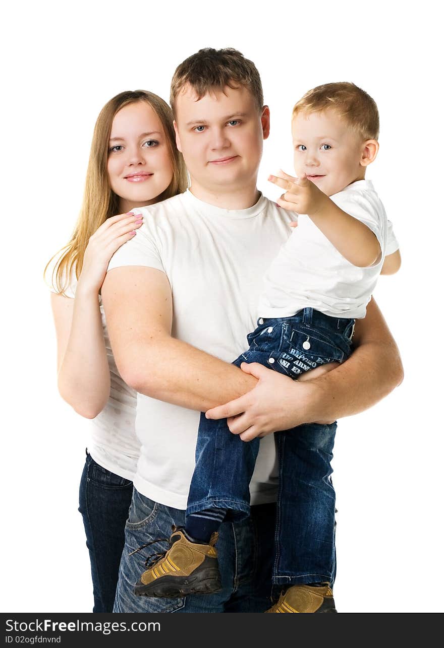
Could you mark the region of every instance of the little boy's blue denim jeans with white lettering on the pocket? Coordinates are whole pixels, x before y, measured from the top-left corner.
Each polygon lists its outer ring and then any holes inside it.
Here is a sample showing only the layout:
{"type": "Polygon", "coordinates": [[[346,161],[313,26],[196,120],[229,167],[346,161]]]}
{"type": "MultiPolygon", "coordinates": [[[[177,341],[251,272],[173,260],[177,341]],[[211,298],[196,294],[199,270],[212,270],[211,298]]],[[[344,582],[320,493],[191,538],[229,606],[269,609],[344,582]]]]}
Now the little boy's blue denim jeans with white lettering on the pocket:
{"type": "MultiPolygon", "coordinates": [[[[233,364],[259,362],[297,378],[351,353],[354,320],[330,318],[304,308],[291,318],[259,319],[249,334],[250,348],[233,364]]],[[[279,492],[275,530],[274,584],[325,582],[336,572],[335,492],[330,461],[336,422],[304,424],[275,433],[279,492]]],[[[219,507],[228,518],[249,515],[249,483],[259,449],[228,430],[227,419],[201,415],[196,466],[186,514],[219,507]]]]}

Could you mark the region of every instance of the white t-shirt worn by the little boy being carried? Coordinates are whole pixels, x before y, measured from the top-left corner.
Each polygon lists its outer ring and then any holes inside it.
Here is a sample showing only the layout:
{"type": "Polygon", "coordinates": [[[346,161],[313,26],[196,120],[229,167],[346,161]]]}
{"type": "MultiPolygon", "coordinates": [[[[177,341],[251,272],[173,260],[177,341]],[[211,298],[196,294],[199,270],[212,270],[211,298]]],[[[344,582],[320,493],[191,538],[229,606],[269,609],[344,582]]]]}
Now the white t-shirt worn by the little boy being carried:
{"type": "Polygon", "coordinates": [[[369,268],[354,266],[308,216],[300,215],[265,276],[260,317],[286,318],[307,307],[336,318],[365,317],[384,257],[399,246],[371,181],[358,180],[330,198],[373,231],[380,258],[369,268]]]}

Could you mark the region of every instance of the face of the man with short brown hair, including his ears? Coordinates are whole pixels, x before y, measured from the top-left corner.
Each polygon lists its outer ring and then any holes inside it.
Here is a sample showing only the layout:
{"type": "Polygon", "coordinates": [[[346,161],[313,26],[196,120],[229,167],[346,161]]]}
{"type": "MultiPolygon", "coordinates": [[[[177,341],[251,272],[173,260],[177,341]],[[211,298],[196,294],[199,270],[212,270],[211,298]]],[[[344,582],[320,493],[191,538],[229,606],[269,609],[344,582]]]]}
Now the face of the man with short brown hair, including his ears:
{"type": "Polygon", "coordinates": [[[201,99],[185,86],[175,104],[177,147],[191,187],[215,193],[256,186],[269,110],[258,111],[245,87],[225,87],[201,99]]]}

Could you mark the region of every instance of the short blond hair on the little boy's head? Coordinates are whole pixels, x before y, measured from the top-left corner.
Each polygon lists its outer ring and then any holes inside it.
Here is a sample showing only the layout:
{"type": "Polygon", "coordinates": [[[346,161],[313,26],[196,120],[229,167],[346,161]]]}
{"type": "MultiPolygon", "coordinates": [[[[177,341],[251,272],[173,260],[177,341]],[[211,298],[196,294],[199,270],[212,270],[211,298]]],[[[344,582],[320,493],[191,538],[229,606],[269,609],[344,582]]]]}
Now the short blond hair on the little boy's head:
{"type": "Polygon", "coordinates": [[[299,113],[317,113],[332,108],[363,139],[378,139],[378,106],[360,87],[347,81],[314,87],[299,99],[293,117],[299,113]]]}

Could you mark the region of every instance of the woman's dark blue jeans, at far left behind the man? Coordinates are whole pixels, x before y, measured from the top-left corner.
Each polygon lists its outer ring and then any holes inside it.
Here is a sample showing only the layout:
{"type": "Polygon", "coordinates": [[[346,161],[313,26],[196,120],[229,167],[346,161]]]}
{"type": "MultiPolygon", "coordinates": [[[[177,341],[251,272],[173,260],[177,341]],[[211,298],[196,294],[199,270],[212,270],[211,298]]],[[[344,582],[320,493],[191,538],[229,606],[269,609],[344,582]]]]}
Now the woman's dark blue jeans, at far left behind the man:
{"type": "Polygon", "coordinates": [[[132,481],[106,470],[86,454],[79,511],[90,551],[93,612],[112,612],[131,496],[132,481]]]}

